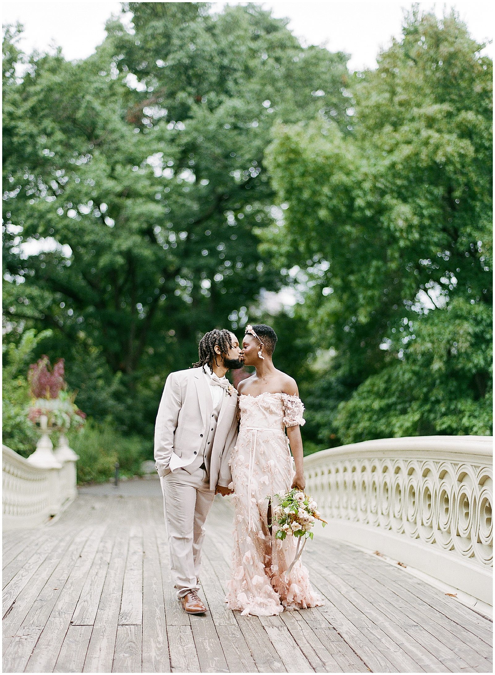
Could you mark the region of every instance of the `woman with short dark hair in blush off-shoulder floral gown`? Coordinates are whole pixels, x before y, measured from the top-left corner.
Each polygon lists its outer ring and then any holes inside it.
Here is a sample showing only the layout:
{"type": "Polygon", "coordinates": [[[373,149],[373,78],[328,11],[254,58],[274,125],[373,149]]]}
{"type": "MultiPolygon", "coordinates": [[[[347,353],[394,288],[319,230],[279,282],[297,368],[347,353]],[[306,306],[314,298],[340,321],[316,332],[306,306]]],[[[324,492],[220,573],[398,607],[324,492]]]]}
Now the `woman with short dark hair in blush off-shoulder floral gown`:
{"type": "Polygon", "coordinates": [[[291,536],[275,539],[271,525],[277,508],[274,495],[305,487],[299,430],[304,406],[295,380],[273,365],[276,339],[275,331],[264,324],[245,329],[244,365],[255,366],[256,373],[239,383],[241,423],[230,459],[234,547],[225,600],[231,610],[256,616],[323,604],[301,560],[286,574],[297,543],[291,536]]]}

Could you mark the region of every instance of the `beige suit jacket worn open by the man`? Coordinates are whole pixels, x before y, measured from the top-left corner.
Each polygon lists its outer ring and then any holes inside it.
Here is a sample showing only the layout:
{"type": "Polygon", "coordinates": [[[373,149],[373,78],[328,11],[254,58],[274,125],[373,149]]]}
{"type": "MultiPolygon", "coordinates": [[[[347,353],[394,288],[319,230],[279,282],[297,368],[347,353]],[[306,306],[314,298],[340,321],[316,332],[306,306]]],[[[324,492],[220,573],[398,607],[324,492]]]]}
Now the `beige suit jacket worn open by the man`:
{"type": "MultiPolygon", "coordinates": [[[[210,489],[231,482],[229,458],[237,440],[237,390],[225,393],[210,458],[210,489]]],[[[212,398],[202,368],[170,373],[154,427],[158,475],[191,464],[201,452],[212,416],[212,398]]]]}

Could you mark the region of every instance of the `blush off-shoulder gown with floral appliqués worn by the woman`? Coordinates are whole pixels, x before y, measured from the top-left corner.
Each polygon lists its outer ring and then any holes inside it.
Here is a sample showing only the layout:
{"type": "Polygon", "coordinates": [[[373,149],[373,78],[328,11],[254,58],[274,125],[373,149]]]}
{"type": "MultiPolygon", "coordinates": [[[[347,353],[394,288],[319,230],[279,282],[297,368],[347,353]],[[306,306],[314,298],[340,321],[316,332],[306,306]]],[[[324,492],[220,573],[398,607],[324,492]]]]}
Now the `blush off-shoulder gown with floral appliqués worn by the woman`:
{"type": "Polygon", "coordinates": [[[294,477],[285,427],[304,424],[304,406],[297,396],[266,392],[240,396],[239,408],[241,425],[230,460],[235,516],[227,606],[244,615],[270,616],[322,605],[300,559],[287,578],[295,537],[281,541],[274,528],[268,529],[268,506],[273,501],[276,509],[274,495],[289,491],[294,477]]]}

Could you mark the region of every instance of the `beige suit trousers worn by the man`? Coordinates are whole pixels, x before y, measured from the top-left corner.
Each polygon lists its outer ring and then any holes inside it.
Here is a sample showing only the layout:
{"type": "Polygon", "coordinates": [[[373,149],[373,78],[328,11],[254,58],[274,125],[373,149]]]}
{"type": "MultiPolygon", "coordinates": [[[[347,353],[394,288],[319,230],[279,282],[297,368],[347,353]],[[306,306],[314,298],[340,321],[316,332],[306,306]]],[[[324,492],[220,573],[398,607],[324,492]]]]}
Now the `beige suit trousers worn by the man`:
{"type": "Polygon", "coordinates": [[[160,482],[172,577],[177,597],[181,598],[199,588],[204,521],[215,495],[202,468],[192,474],[178,468],[162,476],[160,482]]]}

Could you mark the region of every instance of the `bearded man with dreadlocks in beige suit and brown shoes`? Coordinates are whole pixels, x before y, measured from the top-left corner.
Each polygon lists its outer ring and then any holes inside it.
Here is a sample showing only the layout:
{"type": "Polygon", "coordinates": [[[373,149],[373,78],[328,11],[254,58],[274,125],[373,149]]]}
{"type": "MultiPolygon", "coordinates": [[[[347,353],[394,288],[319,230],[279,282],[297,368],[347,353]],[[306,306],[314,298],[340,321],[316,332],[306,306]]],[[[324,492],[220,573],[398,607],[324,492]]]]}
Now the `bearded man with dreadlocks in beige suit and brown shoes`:
{"type": "Polygon", "coordinates": [[[199,356],[191,369],[167,377],[154,430],[172,575],[188,614],[206,612],[198,596],[204,521],[214,495],[231,493],[237,438],[237,390],[225,373],[243,366],[239,341],[227,330],[206,333],[199,356]]]}

